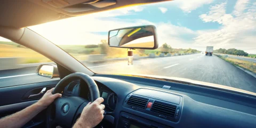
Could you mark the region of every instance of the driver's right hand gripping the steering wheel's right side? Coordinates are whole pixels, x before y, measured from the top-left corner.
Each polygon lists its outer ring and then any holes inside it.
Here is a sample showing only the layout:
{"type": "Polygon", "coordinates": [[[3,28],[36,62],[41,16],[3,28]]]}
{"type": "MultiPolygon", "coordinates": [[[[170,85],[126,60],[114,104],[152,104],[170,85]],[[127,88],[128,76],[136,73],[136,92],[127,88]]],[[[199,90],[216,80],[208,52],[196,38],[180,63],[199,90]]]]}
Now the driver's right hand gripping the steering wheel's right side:
{"type": "Polygon", "coordinates": [[[87,106],[84,107],[82,114],[74,127],[95,127],[98,125],[102,121],[105,112],[105,105],[100,104],[103,101],[103,98],[98,98],[92,103],[89,102],[87,106]]]}

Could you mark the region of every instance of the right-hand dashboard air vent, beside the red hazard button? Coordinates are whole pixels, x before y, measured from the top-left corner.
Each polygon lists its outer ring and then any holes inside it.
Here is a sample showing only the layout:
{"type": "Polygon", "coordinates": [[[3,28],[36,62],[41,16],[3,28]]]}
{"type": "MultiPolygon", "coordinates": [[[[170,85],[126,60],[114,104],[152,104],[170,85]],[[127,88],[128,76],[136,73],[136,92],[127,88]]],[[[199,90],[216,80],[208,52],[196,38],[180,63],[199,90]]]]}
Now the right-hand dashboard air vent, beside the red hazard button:
{"type": "Polygon", "coordinates": [[[154,111],[156,113],[163,114],[166,116],[174,117],[176,108],[177,106],[155,101],[153,103],[151,111],[154,111]]]}

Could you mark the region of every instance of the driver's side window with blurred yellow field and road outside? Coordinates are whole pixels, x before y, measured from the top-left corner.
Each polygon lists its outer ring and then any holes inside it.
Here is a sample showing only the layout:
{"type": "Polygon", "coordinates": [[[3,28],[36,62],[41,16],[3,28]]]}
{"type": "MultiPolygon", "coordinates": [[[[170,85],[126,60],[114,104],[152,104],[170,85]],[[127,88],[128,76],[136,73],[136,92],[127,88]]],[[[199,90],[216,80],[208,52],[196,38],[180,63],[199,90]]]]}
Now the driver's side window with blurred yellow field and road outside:
{"type": "Polygon", "coordinates": [[[41,63],[55,65],[42,54],[0,37],[0,87],[58,79],[38,76],[36,68],[41,63]]]}

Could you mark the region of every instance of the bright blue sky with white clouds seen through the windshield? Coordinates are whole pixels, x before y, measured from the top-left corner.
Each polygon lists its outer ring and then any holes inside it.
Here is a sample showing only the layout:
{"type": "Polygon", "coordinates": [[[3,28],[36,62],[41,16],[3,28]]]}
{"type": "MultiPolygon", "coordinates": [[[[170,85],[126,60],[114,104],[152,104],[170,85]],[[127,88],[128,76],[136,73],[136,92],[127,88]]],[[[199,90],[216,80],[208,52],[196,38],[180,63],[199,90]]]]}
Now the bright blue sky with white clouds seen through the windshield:
{"type": "MultiPolygon", "coordinates": [[[[108,30],[154,25],[158,44],[205,51],[239,49],[256,53],[256,0],[177,0],[124,7],[30,26],[60,44],[99,44],[108,30]]],[[[0,39],[1,40],[1,39],[0,39]]]]}

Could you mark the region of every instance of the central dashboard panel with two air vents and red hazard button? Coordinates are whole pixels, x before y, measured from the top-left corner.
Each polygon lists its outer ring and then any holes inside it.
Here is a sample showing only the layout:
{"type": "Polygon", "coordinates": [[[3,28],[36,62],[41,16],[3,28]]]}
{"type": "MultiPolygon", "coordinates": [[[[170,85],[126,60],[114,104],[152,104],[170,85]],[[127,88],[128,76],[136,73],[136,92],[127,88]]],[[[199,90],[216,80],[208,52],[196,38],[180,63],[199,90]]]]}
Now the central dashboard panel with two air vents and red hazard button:
{"type": "Polygon", "coordinates": [[[139,89],[129,94],[124,102],[124,107],[136,112],[155,116],[155,119],[149,120],[142,118],[140,114],[130,114],[128,111],[122,111],[119,117],[118,127],[140,128],[140,127],[170,127],[158,123],[163,120],[169,122],[178,122],[183,98],[181,95],[149,90],[139,89]]]}

